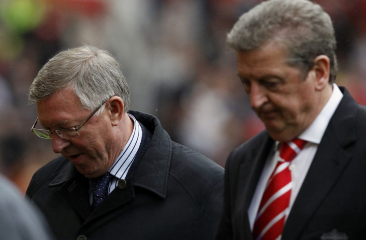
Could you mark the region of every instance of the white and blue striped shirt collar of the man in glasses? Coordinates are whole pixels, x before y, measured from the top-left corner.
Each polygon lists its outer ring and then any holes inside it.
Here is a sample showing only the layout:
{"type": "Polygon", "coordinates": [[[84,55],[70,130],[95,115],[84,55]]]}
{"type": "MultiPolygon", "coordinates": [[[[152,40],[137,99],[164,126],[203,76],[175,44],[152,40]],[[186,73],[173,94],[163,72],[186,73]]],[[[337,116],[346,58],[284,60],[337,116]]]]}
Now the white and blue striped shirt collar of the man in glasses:
{"type": "Polygon", "coordinates": [[[131,167],[133,160],[136,157],[137,150],[140,147],[142,139],[142,128],[138,121],[132,115],[128,114],[130,119],[134,122],[134,127],[130,139],[122,152],[118,155],[109,173],[118,179],[125,179],[128,170],[131,167]]]}

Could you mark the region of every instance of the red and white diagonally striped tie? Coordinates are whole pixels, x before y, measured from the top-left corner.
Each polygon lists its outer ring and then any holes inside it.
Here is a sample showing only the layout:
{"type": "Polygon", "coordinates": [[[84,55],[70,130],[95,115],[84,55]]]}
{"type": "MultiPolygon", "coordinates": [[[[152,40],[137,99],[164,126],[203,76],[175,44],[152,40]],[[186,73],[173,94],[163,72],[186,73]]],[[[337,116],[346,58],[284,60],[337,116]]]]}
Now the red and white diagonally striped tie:
{"type": "Polygon", "coordinates": [[[281,160],[278,161],[274,172],[267,182],[254,223],[253,236],[255,240],[280,239],[292,188],[289,166],[292,159],[305,144],[306,141],[301,139],[281,143],[279,150],[281,160]]]}

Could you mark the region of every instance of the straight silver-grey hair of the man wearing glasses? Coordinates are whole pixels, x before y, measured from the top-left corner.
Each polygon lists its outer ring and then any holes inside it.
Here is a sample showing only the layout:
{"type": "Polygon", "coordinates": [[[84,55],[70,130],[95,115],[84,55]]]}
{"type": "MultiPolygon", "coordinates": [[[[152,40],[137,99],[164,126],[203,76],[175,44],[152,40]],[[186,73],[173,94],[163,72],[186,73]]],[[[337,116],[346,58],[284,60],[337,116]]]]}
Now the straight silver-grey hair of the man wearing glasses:
{"type": "MultiPolygon", "coordinates": [[[[107,51],[91,46],[62,51],[38,72],[29,88],[31,103],[72,87],[82,106],[93,110],[112,96],[122,98],[125,112],[130,91],[118,62],[107,51]]],[[[100,113],[104,108],[96,113],[100,113]]]]}

